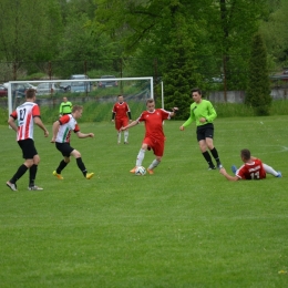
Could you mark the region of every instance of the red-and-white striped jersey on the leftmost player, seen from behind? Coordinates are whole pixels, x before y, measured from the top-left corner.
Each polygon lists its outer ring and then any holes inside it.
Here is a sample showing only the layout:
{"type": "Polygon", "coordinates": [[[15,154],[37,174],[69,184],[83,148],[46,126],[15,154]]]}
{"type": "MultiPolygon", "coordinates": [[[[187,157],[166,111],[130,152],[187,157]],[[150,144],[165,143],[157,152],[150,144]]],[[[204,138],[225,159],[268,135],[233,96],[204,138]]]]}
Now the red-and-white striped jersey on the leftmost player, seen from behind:
{"type": "Polygon", "coordinates": [[[40,109],[37,103],[24,102],[18,106],[10,116],[18,122],[17,141],[33,138],[33,117],[40,117],[40,109]]]}

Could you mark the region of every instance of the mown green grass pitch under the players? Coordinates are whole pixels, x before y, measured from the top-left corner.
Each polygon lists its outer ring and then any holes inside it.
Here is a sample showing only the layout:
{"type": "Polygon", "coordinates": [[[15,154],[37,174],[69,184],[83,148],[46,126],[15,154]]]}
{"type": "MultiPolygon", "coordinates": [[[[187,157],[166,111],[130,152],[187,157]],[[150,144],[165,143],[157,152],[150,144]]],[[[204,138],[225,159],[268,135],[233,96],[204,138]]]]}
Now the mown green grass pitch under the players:
{"type": "MultiPolygon", "coordinates": [[[[28,174],[19,192],[6,186],[22,163],[14,132],[1,133],[0,287],[288,287],[287,116],[215,121],[215,146],[224,166],[239,165],[250,148],[284,177],[228,182],[207,171],[195,124],[166,121],[163,163],[154,175],[134,176],[143,125],[117,145],[113,124],[80,123],[95,138],[72,146],[95,176],[86,181],[72,160],[61,161],[35,127],[41,156],[37,184],[28,174]]],[[[49,126],[51,131],[51,125],[49,126]]],[[[147,152],[143,162],[153,160],[147,152]]]]}

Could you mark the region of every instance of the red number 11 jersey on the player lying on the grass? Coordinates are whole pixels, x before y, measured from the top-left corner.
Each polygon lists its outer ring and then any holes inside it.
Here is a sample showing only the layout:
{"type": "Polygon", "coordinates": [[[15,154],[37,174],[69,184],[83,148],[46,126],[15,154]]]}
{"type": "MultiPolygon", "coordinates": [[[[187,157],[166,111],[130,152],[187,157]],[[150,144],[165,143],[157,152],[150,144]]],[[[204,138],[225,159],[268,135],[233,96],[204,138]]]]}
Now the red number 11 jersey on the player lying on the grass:
{"type": "Polygon", "coordinates": [[[253,163],[245,163],[237,169],[236,176],[241,179],[264,179],[266,172],[260,160],[255,160],[253,163]]]}

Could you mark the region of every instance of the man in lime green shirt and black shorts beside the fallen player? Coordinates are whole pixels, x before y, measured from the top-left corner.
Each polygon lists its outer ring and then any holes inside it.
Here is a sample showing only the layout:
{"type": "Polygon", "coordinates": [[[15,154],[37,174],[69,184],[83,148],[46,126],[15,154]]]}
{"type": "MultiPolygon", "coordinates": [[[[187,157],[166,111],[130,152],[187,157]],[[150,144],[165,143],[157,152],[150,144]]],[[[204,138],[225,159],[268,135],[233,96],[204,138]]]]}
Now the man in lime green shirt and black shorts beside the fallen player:
{"type": "Polygon", "coordinates": [[[222,168],[222,163],[218,156],[217,150],[213,144],[214,125],[213,121],[216,119],[217,114],[212,103],[207,100],[202,99],[202,91],[196,88],[192,90],[193,103],[191,104],[191,116],[189,119],[179,127],[184,131],[185,127],[191,125],[193,121],[196,121],[197,126],[197,141],[199,143],[199,148],[206,162],[208,163],[208,169],[215,169],[212,156],[215,158],[217,167],[222,168]],[[209,154],[209,152],[210,154],[209,154]]]}

